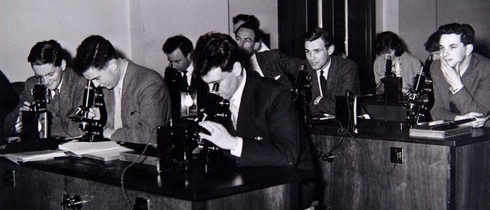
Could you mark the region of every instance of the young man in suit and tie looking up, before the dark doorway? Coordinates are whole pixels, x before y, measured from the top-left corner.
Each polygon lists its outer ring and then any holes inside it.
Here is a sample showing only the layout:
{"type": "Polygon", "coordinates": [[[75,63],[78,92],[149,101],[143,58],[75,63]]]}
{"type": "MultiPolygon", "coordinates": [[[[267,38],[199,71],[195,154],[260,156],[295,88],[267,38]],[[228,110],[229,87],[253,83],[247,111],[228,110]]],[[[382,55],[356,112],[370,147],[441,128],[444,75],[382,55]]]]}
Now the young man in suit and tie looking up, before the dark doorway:
{"type": "Polygon", "coordinates": [[[332,56],[334,51],[327,31],[316,28],[304,34],[304,52],[311,76],[309,109],[313,115],[335,115],[335,96],[344,96],[347,91],[355,95],[359,88],[356,62],[332,56]]]}

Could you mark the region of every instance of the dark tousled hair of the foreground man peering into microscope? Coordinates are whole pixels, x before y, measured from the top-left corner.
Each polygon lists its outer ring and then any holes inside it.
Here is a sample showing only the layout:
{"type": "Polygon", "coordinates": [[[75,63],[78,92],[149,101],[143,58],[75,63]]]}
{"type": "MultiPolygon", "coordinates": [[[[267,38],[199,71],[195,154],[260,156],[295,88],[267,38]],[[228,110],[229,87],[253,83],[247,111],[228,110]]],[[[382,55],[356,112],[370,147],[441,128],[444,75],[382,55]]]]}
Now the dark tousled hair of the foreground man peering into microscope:
{"type": "Polygon", "coordinates": [[[235,62],[240,62],[237,42],[228,34],[209,32],[200,36],[194,51],[194,73],[206,76],[212,68],[221,67],[221,71],[232,71],[235,62]]]}

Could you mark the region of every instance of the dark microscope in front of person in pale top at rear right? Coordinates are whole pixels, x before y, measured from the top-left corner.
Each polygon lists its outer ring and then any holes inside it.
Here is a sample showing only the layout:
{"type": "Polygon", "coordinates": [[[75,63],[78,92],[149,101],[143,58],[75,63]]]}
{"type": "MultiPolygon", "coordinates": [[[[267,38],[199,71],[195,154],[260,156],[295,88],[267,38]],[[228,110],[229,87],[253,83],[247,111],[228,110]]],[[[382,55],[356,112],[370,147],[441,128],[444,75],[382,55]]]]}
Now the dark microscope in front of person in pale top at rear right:
{"type": "Polygon", "coordinates": [[[402,97],[402,78],[396,76],[392,70],[392,66],[393,61],[391,60],[391,56],[388,55],[385,76],[381,79],[384,82],[384,98],[386,101],[398,101],[402,97]]]}

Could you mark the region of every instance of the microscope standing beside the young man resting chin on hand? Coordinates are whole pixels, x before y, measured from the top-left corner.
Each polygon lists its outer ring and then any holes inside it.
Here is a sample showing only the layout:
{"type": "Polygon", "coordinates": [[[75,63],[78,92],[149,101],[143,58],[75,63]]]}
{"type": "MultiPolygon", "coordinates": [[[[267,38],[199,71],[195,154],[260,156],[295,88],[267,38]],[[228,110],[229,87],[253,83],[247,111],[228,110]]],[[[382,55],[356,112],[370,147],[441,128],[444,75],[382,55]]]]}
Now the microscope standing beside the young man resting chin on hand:
{"type": "Polygon", "coordinates": [[[426,64],[421,67],[416,74],[414,86],[408,91],[407,104],[407,121],[410,123],[420,123],[425,120],[424,111],[428,111],[434,105],[434,94],[432,92],[432,78],[430,77],[430,64],[432,64],[432,55],[426,59],[426,64]],[[428,102],[419,102],[416,99],[423,94],[428,94],[428,102]]]}

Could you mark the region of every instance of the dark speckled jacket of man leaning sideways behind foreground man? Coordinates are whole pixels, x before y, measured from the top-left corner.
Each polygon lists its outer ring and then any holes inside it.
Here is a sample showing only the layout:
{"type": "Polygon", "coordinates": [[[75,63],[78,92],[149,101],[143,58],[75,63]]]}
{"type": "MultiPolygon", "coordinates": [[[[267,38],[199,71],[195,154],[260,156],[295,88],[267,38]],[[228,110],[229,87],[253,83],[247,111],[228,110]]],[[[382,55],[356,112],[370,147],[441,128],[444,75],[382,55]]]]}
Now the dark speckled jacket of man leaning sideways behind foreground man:
{"type": "Polygon", "coordinates": [[[264,77],[275,79],[279,76],[279,83],[286,85],[289,90],[294,87],[294,78],[301,64],[305,64],[303,59],[284,55],[280,50],[256,52],[255,57],[264,77]]]}

